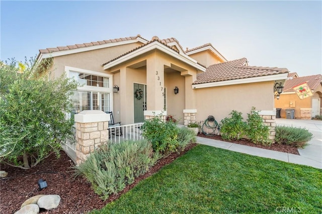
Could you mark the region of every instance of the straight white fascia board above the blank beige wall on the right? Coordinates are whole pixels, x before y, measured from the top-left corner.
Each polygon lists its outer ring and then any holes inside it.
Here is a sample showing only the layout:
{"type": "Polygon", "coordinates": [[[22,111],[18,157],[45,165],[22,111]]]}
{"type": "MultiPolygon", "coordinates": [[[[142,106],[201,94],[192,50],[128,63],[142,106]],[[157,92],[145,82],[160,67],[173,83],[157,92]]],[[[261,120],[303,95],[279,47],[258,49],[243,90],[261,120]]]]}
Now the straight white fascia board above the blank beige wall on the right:
{"type": "Polygon", "coordinates": [[[273,74],[267,76],[257,76],[251,78],[244,79],[233,79],[219,82],[207,82],[207,83],[199,83],[193,84],[192,88],[207,88],[207,87],[216,87],[216,86],[224,86],[224,85],[235,85],[235,84],[245,84],[245,83],[254,83],[254,82],[266,82],[273,80],[283,80],[286,79],[288,75],[287,73],[273,74]]]}

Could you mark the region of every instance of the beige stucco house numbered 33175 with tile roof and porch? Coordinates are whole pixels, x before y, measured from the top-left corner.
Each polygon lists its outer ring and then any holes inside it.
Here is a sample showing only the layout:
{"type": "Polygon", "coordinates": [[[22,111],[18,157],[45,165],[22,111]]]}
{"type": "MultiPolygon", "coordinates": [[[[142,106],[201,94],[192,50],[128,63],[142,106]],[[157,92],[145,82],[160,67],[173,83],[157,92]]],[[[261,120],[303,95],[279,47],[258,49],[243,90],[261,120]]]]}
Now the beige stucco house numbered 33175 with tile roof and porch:
{"type": "Polygon", "coordinates": [[[246,119],[255,106],[274,127],[274,85],[288,75],[286,68],[249,66],[246,58],[227,61],[210,43],[183,50],[176,39],[156,36],[40,50],[38,60],[49,57],[52,74],[84,83],[72,97],[73,113],[113,111],[122,124],[154,114],[173,115],[185,125],[209,115],[220,122],[232,110],[246,119]]]}

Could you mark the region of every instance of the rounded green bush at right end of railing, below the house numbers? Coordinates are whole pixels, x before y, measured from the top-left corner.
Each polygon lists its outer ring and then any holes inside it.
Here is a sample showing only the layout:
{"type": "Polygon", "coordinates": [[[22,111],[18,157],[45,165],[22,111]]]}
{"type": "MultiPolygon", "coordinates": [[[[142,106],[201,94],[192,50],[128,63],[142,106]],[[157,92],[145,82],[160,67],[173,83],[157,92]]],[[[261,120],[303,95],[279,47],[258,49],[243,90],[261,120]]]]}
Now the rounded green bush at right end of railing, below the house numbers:
{"type": "Polygon", "coordinates": [[[151,142],[154,152],[168,155],[177,151],[179,128],[172,120],[165,121],[162,115],[154,115],[144,121],[141,130],[144,138],[151,142]]]}

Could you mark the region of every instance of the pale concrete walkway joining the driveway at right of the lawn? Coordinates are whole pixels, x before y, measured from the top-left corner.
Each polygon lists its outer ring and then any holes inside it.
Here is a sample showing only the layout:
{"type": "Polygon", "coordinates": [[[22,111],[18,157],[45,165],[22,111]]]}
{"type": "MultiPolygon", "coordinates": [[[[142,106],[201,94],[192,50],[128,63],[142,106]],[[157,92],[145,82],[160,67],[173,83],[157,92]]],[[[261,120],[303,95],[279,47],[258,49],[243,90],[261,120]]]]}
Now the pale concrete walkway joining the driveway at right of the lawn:
{"type": "Polygon", "coordinates": [[[202,137],[197,137],[197,143],[322,169],[322,121],[276,119],[276,124],[282,126],[306,128],[313,134],[314,138],[308,142],[308,145],[304,149],[298,149],[300,155],[293,155],[284,152],[277,152],[202,137]]]}

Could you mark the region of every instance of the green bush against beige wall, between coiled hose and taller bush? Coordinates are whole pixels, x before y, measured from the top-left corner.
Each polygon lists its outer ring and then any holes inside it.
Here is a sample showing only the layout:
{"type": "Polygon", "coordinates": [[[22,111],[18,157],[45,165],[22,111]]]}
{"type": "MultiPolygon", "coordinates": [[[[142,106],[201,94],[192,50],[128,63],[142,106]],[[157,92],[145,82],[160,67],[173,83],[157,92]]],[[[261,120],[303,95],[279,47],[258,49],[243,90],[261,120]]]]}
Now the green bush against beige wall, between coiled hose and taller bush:
{"type": "Polygon", "coordinates": [[[229,115],[230,118],[226,117],[220,122],[221,137],[224,140],[239,140],[245,135],[247,125],[241,112],[233,110],[229,115]]]}

